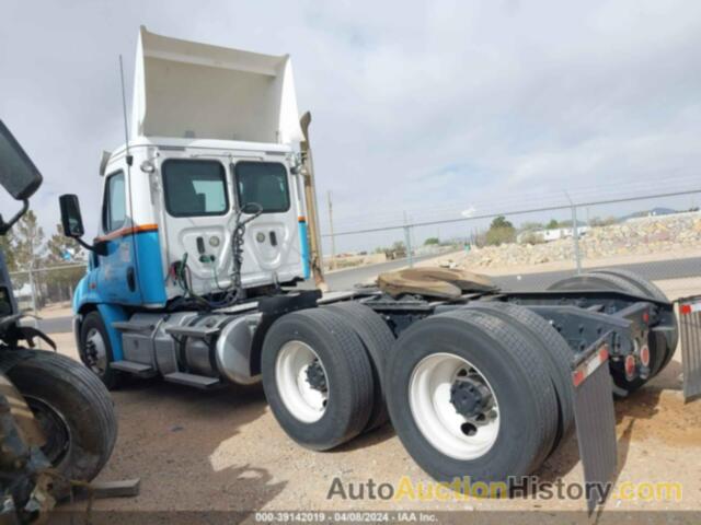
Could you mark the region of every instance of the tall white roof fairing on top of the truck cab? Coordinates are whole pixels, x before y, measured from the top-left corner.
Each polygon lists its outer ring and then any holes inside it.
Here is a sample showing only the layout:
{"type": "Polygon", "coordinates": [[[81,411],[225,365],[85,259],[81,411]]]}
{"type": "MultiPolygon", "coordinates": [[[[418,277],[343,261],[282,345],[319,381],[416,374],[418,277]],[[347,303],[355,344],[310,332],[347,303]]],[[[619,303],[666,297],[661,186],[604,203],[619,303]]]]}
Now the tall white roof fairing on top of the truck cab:
{"type": "Polygon", "coordinates": [[[301,140],[289,56],[149,33],[136,56],[131,138],[301,140]]]}

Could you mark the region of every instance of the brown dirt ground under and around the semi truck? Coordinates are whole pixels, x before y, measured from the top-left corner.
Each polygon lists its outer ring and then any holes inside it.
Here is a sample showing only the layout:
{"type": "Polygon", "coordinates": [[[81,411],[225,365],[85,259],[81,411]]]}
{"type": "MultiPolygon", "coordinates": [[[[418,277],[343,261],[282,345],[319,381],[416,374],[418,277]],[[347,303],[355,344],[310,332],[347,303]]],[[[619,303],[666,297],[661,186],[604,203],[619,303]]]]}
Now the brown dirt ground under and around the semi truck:
{"type": "MultiPolygon", "coordinates": [[[[699,282],[660,282],[670,295],[699,293],[699,282]],[[693,285],[691,285],[693,284],[693,285]],[[696,287],[694,287],[696,285],[696,287]],[[697,288],[698,287],[698,288],[697,288]],[[673,290],[675,292],[673,292],[673,290]]],[[[56,336],[76,357],[72,337],[56,336]]],[[[654,381],[616,404],[618,487],[624,481],[680,482],[681,501],[610,499],[607,510],[701,511],[701,400],[683,404],[680,355],[654,381]]],[[[96,501],[96,510],[583,510],[576,499],[467,501],[327,499],[334,478],[344,483],[397,486],[402,476],[428,482],[391,425],[330,453],[307,451],[279,429],[260,386],[200,392],[161,381],[131,382],[113,393],[119,438],[101,480],[141,478],[137,498],[96,501]]],[[[575,438],[540,471],[541,480],[582,480],[575,438]]],[[[84,503],[76,503],[76,509],[84,503]]],[[[254,520],[254,514],[249,515],[254,520]]]]}

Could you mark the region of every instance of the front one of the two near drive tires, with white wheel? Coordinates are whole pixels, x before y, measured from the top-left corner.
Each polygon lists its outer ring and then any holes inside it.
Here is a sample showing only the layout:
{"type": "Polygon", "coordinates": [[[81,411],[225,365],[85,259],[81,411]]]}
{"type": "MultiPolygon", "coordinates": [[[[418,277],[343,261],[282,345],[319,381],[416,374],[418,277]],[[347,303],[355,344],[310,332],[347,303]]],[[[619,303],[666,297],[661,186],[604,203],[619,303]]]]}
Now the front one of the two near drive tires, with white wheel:
{"type": "Polygon", "coordinates": [[[360,338],[338,314],[313,308],[277,319],[263,341],[261,372],[275,418],[307,448],[338,446],[370,419],[370,361],[360,338]]]}

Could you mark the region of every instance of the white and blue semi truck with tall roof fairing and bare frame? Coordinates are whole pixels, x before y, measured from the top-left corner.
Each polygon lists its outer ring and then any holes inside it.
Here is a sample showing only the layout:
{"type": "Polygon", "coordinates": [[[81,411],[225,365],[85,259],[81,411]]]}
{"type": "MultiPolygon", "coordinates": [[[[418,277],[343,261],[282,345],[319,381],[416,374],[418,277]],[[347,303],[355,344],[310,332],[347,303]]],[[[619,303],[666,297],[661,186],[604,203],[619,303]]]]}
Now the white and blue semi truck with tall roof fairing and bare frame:
{"type": "Polygon", "coordinates": [[[310,120],[288,56],[141,27],[92,243],[78,197],[60,197],[65,233],[90,250],[73,298],[83,363],[110,388],[262,381],[283,430],[317,451],[391,421],[446,481],[528,475],[576,420],[587,480],[609,479],[612,390],[677,348],[664,293],[617,269],[516,292],[439,268],[323,293],[310,120]]]}

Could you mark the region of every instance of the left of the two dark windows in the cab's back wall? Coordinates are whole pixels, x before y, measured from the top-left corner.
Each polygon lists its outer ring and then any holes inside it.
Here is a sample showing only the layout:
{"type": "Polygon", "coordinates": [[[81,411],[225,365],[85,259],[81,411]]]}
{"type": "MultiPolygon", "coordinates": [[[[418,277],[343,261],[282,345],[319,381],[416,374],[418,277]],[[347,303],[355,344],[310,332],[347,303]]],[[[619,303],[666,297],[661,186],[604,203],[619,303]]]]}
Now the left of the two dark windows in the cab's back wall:
{"type": "Polygon", "coordinates": [[[223,165],[171,159],[162,166],[165,209],[173,217],[221,215],[229,210],[223,165]]]}

